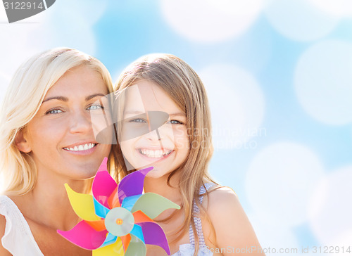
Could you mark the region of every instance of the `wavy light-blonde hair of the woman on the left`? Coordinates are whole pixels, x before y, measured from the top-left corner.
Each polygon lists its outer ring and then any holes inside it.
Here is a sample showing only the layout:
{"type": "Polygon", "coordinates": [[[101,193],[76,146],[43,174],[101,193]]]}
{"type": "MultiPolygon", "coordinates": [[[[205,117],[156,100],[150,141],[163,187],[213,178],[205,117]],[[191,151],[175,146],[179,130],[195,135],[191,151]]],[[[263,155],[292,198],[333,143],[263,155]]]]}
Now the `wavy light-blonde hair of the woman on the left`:
{"type": "Polygon", "coordinates": [[[37,181],[37,167],[30,153],[22,153],[15,137],[36,115],[47,91],[71,68],[87,65],[99,72],[109,92],[111,75],[96,58],[69,48],[56,48],[33,56],[18,68],[0,107],[0,171],[5,191],[23,195],[37,181]]]}

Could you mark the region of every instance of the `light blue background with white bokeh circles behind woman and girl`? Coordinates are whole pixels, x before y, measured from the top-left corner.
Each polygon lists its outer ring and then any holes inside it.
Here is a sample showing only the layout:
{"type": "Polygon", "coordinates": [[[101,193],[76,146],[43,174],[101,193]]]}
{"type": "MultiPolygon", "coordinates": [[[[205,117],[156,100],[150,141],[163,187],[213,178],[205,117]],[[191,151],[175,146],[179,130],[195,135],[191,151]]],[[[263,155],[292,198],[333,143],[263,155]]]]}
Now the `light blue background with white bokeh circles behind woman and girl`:
{"type": "Polygon", "coordinates": [[[263,248],[346,248],[351,18],[344,0],[57,0],[8,24],[0,5],[0,96],[20,63],[56,46],[99,58],[114,81],[139,56],[175,54],[209,94],[210,174],[237,193],[263,248]]]}

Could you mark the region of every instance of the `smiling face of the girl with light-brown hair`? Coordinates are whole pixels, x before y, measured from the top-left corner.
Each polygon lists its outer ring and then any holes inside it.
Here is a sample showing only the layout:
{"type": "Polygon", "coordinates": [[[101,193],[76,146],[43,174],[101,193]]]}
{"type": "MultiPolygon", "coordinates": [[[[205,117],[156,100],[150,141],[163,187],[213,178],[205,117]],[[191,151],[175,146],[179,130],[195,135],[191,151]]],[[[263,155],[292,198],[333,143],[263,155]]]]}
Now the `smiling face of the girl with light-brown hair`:
{"type": "Polygon", "coordinates": [[[156,84],[142,80],[128,87],[120,139],[124,157],[136,169],[153,166],[148,177],[169,174],[189,155],[186,122],[186,115],[156,84]]]}

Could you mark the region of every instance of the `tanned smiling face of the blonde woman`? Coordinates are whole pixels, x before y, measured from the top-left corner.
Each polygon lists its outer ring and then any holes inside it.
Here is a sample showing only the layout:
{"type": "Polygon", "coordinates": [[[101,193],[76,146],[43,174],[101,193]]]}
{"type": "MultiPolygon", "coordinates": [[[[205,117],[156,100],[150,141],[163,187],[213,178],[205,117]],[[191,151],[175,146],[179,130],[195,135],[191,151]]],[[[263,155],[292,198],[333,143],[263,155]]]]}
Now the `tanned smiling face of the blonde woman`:
{"type": "Polygon", "coordinates": [[[111,150],[110,145],[96,143],[92,125],[101,124],[91,122],[91,115],[103,112],[97,102],[105,101],[106,94],[106,84],[92,68],[82,65],[68,70],[18,134],[18,148],[32,154],[39,172],[68,179],[93,177],[111,150]]]}

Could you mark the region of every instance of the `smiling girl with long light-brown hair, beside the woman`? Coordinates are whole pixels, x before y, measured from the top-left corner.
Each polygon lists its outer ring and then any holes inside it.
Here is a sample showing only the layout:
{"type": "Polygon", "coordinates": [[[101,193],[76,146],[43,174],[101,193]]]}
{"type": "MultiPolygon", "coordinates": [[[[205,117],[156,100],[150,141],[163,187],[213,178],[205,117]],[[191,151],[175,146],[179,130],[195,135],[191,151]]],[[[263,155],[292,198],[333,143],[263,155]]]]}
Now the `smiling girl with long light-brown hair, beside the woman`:
{"type": "MultiPolygon", "coordinates": [[[[173,255],[263,255],[230,188],[208,174],[213,153],[210,110],[201,79],[168,54],[144,56],[118,79],[120,176],[153,166],[144,191],[182,206],[158,216],[173,255]]],[[[165,255],[149,247],[148,255],[165,255]]]]}

